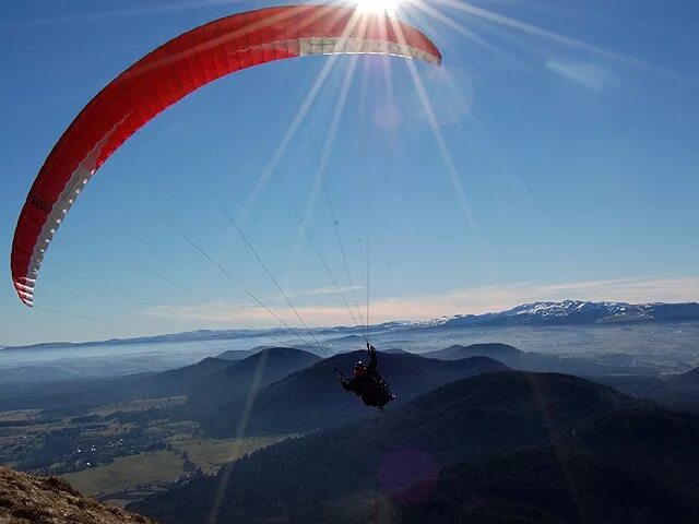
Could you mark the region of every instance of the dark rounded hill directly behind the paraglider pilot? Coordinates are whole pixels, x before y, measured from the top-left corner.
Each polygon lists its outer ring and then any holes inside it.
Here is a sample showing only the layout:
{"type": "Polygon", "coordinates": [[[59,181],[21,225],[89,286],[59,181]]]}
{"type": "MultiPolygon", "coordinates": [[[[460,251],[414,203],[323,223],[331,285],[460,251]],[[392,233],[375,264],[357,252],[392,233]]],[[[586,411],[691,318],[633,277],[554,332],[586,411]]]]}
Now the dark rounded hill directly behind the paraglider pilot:
{"type": "MultiPolygon", "coordinates": [[[[238,420],[248,418],[247,432],[288,433],[336,426],[367,413],[353,393],[343,390],[333,368],[351,372],[357,360],[366,360],[366,352],[336,355],[275,382],[261,391],[254,402],[240,397],[223,409],[194,414],[209,432],[226,437],[238,430],[238,420]]],[[[379,372],[391,384],[398,404],[454,380],[508,369],[487,357],[441,361],[411,354],[379,354],[379,372]]]]}

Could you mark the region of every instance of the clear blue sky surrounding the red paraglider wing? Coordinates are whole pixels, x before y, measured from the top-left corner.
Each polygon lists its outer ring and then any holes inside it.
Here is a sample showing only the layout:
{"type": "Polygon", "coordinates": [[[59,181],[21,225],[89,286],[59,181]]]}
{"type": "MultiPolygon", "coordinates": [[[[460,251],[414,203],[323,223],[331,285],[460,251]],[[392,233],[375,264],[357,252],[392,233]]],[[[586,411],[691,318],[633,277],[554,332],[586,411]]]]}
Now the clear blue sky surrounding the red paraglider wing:
{"type": "MultiPolygon", "coordinates": [[[[9,261],[46,155],[100,87],[183,31],[265,5],[11,2],[0,22],[0,258],[9,261]]],[[[372,322],[540,299],[697,298],[696,2],[440,0],[400,10],[443,53],[439,69],[415,63],[434,118],[396,58],[339,58],[304,118],[327,57],[205,86],[93,178],[51,245],[33,310],[8,269],[0,345],[279,326],[241,286],[298,324],[225,211],[246,210],[247,238],[312,325],[366,318],[367,290],[372,322]],[[333,121],[328,199],[321,191],[310,202],[333,121]],[[306,229],[337,287],[294,207],[308,211],[306,229]]]]}

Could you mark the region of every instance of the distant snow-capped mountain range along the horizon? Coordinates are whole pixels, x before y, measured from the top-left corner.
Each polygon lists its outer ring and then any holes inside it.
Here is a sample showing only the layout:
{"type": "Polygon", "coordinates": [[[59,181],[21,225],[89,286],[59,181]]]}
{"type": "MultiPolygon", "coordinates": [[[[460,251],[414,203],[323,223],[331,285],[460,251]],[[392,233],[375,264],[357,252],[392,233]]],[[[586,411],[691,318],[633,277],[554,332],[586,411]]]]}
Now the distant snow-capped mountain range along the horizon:
{"type": "MultiPolygon", "coordinates": [[[[564,300],[561,302],[544,301],[518,306],[507,311],[484,314],[457,314],[441,317],[426,321],[391,321],[369,326],[370,334],[400,332],[406,330],[439,330],[458,326],[509,326],[509,325],[584,325],[584,324],[615,324],[628,322],[689,322],[699,321],[699,302],[685,303],[627,303],[627,302],[590,302],[582,300],[564,300]]],[[[332,343],[353,340],[363,333],[364,326],[313,327],[313,335],[341,335],[340,338],[328,341],[332,343]]],[[[284,336],[285,329],[270,330],[197,330],[185,333],[174,333],[157,336],[141,336],[137,338],[111,338],[98,342],[57,342],[28,346],[8,346],[9,349],[51,349],[64,347],[121,345],[121,344],[156,344],[162,342],[193,342],[249,338],[256,336],[284,336]]],[[[312,350],[312,348],[308,348],[312,350]]]]}

